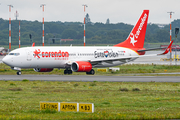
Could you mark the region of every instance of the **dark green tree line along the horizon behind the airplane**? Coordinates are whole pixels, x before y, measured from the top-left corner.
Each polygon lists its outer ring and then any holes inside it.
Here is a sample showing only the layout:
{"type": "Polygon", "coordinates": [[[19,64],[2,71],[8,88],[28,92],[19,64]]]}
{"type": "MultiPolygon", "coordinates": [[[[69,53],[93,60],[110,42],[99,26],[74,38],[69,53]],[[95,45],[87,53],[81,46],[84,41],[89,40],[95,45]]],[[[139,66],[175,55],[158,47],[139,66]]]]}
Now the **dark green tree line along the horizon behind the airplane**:
{"type": "MultiPolygon", "coordinates": [[[[90,21],[90,20],[89,20],[90,21]]],[[[21,45],[30,45],[29,35],[32,35],[36,45],[42,44],[42,23],[39,21],[21,20],[21,45]]],[[[156,24],[148,24],[145,42],[159,43],[169,42],[169,25],[163,28],[156,24]]],[[[172,37],[175,39],[174,29],[180,27],[180,20],[172,22],[172,37]]],[[[124,41],[133,25],[125,23],[111,24],[107,19],[104,23],[86,23],[86,44],[117,44],[124,41]]],[[[83,44],[84,26],[83,22],[45,22],[45,45],[47,44],[83,44]],[[52,42],[52,39],[55,41],[52,42]],[[73,39],[73,41],[60,41],[61,39],[73,39]]],[[[19,21],[11,22],[12,45],[19,44],[19,21]]],[[[180,41],[180,35],[178,35],[180,41]]],[[[0,46],[8,45],[9,42],[9,21],[0,18],[0,46]]]]}

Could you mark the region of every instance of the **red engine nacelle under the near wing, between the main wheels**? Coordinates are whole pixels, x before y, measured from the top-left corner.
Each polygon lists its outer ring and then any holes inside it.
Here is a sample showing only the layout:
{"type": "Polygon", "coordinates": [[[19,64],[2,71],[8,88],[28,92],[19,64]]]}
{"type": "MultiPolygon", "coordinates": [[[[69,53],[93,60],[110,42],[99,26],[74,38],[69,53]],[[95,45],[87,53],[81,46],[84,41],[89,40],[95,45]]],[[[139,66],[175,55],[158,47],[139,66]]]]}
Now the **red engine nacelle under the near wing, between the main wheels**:
{"type": "Polygon", "coordinates": [[[71,69],[74,72],[89,72],[92,69],[92,65],[90,62],[76,61],[72,63],[71,69]]]}

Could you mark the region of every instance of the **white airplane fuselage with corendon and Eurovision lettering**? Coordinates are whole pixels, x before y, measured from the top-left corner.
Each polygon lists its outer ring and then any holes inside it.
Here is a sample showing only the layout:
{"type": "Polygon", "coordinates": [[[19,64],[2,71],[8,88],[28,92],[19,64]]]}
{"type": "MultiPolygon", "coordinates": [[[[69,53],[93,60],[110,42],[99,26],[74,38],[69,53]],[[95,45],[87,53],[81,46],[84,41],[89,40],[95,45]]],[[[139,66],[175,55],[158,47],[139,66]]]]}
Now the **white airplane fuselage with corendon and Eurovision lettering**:
{"type": "Polygon", "coordinates": [[[97,61],[92,67],[110,67],[124,64],[139,56],[137,52],[122,47],[24,47],[11,51],[3,62],[18,68],[70,68],[75,61],[97,61]],[[121,59],[117,60],[117,59],[121,59]],[[106,60],[111,60],[107,62],[106,60]],[[105,62],[104,62],[105,61],[105,62]]]}

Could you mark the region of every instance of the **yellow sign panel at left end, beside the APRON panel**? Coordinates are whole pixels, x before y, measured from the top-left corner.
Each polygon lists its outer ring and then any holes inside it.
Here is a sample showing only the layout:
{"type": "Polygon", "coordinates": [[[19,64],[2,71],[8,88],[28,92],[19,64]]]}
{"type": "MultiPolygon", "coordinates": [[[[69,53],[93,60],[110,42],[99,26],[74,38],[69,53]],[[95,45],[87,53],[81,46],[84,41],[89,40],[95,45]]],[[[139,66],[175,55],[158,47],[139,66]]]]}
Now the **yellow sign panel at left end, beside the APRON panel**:
{"type": "Polygon", "coordinates": [[[40,102],[40,110],[46,109],[60,111],[60,102],[40,102]]]}

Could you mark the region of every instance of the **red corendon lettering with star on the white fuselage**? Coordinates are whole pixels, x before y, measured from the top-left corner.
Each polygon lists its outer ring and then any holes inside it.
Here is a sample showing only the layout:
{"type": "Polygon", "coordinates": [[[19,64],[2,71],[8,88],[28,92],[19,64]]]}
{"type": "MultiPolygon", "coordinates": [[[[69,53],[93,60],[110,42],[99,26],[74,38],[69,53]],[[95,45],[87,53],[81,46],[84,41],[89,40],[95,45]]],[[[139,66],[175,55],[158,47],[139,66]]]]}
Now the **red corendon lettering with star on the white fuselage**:
{"type": "Polygon", "coordinates": [[[69,57],[69,53],[68,52],[63,52],[61,50],[59,50],[58,52],[45,52],[45,51],[41,51],[40,49],[35,49],[34,51],[34,57],[37,58],[58,58],[58,57],[69,57]]]}

